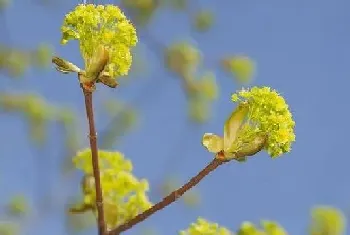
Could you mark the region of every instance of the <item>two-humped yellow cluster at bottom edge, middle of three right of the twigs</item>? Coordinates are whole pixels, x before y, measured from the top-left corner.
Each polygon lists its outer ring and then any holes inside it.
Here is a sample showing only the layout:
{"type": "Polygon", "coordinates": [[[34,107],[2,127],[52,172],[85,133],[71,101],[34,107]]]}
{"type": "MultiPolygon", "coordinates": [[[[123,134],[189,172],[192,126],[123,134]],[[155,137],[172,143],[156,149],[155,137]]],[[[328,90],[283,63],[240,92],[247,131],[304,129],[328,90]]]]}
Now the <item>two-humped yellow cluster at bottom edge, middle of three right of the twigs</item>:
{"type": "Polygon", "coordinates": [[[273,221],[262,221],[263,230],[256,228],[250,222],[244,222],[238,230],[237,235],[288,235],[288,233],[273,221]]]}

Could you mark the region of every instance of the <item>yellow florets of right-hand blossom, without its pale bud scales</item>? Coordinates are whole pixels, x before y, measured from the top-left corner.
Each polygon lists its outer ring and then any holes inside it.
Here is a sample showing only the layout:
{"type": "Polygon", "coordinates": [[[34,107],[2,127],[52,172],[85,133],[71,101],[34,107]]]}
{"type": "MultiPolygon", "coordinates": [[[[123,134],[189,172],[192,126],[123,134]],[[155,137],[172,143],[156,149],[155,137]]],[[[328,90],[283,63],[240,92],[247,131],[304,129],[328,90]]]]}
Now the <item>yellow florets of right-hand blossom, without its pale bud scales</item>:
{"type": "Polygon", "coordinates": [[[284,98],[269,87],[253,87],[232,95],[232,101],[247,103],[247,121],[239,131],[237,145],[249,136],[266,135],[265,149],[272,157],[291,150],[295,122],[284,98]]]}

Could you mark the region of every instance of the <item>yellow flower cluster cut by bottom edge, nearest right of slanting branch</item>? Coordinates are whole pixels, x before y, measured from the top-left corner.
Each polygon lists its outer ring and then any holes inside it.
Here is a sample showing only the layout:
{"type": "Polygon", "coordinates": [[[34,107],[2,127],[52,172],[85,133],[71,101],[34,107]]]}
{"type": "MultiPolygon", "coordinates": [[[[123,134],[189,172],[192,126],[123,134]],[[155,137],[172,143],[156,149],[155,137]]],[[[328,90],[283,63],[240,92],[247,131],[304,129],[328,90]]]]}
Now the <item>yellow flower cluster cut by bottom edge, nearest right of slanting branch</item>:
{"type": "Polygon", "coordinates": [[[233,233],[217,223],[198,218],[196,223],[192,223],[187,230],[180,231],[179,235],[233,235],[233,233]]]}

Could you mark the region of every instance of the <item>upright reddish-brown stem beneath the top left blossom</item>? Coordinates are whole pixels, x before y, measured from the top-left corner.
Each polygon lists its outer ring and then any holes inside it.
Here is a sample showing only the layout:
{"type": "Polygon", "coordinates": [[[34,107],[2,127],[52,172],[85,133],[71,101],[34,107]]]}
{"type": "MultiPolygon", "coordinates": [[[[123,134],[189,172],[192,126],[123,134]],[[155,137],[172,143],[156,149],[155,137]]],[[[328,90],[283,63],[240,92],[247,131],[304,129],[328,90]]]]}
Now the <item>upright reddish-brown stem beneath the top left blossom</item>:
{"type": "Polygon", "coordinates": [[[103,197],[102,197],[102,188],[100,182],[100,168],[98,165],[98,149],[97,149],[97,136],[94,123],[94,113],[92,108],[92,92],[87,91],[83,86],[81,86],[84,98],[85,98],[85,108],[86,116],[89,121],[89,140],[92,156],[92,168],[95,178],[95,191],[96,191],[96,207],[97,207],[97,223],[98,223],[98,234],[105,234],[105,220],[103,212],[103,197]]]}

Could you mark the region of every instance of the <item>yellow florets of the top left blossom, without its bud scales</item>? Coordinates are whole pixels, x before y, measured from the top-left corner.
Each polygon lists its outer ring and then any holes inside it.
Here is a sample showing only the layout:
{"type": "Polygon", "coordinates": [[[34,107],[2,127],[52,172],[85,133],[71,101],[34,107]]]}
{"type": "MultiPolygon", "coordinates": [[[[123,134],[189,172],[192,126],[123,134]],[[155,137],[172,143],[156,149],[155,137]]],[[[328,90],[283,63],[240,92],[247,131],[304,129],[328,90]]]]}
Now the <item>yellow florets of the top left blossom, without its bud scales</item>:
{"type": "Polygon", "coordinates": [[[93,66],[96,50],[109,53],[104,72],[110,77],[126,75],[131,67],[130,48],[137,43],[136,30],[115,5],[80,4],[68,13],[61,27],[62,44],[78,40],[86,71],[93,66]]]}

